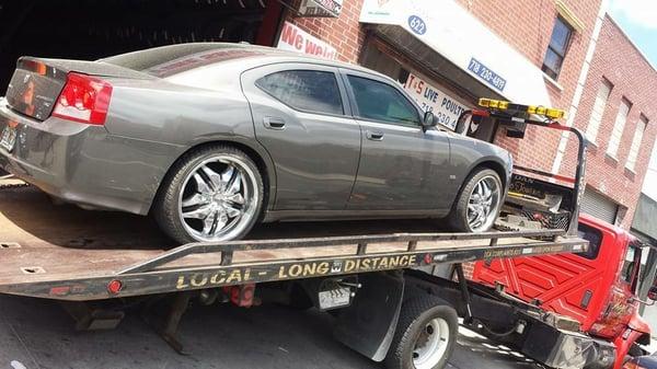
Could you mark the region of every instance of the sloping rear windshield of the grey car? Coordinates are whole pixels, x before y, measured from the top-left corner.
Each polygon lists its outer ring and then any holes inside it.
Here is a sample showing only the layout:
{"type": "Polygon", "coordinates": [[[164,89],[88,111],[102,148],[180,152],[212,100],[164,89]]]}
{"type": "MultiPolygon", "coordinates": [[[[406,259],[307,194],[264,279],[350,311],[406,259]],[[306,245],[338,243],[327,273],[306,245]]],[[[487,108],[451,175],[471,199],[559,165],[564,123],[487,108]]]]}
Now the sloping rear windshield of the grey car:
{"type": "Polygon", "coordinates": [[[251,45],[200,43],[155,47],[122,54],[99,61],[164,78],[215,62],[263,54],[263,51],[251,45]]]}

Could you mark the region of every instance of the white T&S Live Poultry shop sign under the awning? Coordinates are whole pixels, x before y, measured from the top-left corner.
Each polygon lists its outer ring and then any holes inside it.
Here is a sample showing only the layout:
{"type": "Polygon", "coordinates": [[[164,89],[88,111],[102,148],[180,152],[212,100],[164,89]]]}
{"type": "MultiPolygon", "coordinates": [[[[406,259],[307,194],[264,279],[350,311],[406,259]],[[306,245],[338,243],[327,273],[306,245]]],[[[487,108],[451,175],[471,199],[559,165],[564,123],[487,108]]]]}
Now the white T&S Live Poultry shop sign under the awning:
{"type": "Polygon", "coordinates": [[[404,90],[425,112],[433,112],[439,124],[452,130],[457,127],[461,113],[468,109],[465,105],[413,73],[408,74],[404,90]]]}

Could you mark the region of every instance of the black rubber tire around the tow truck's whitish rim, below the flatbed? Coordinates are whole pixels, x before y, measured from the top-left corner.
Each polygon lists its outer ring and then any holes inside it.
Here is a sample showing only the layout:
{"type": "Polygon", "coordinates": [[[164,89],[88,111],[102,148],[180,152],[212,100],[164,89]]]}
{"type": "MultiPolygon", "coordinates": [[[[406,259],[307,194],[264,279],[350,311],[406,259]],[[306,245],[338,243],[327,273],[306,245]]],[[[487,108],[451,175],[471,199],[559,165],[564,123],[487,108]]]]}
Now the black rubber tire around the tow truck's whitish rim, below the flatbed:
{"type": "Polygon", "coordinates": [[[447,348],[431,369],[441,369],[453,351],[459,330],[457,312],[446,301],[430,295],[414,295],[402,304],[392,344],[385,356],[388,369],[415,369],[414,350],[420,334],[434,319],[442,319],[449,327],[447,348]]]}

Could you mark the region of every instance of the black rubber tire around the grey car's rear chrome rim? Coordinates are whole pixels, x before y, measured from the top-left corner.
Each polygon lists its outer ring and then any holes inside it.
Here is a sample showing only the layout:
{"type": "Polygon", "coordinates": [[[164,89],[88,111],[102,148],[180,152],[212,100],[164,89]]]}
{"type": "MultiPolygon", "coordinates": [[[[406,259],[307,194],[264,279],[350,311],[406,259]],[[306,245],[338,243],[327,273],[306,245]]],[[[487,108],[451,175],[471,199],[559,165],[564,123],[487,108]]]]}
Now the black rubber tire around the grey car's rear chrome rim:
{"type": "Polygon", "coordinates": [[[199,241],[186,231],[185,226],[178,216],[178,195],[184,185],[184,181],[198,164],[218,154],[239,159],[249,169],[250,173],[253,174],[255,181],[254,193],[257,193],[257,201],[254,204],[255,211],[247,221],[245,220],[245,227],[243,227],[243,229],[234,237],[231,237],[231,240],[239,240],[246,235],[260,219],[265,194],[262,174],[260,173],[257,165],[255,165],[247,154],[234,147],[219,143],[205,146],[185,153],[176,161],[169,171],[166,177],[162,181],[160,192],[153,201],[151,214],[155,221],[162,231],[181,244],[199,241]]]}

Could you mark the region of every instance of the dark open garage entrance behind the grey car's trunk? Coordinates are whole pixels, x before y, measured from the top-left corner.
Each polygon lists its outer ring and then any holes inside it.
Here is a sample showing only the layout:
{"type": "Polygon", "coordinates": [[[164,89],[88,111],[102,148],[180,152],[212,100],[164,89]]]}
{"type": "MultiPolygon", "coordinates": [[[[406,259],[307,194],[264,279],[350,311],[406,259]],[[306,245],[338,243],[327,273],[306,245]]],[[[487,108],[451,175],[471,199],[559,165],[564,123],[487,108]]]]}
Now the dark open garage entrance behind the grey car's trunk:
{"type": "Polygon", "coordinates": [[[0,94],[23,55],[93,60],[191,42],[272,45],[277,0],[0,0],[0,94]]]}

